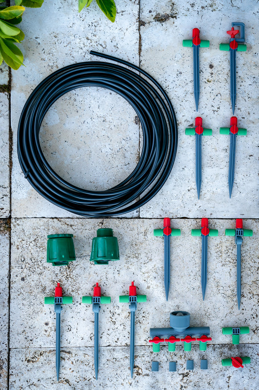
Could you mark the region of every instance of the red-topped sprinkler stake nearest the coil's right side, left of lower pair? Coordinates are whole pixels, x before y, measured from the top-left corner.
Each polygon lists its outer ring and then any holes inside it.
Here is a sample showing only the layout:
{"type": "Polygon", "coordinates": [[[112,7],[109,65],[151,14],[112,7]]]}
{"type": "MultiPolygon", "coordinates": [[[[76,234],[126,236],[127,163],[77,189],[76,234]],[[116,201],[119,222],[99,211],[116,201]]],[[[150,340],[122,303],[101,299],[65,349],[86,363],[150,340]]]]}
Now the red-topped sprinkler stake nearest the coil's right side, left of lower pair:
{"type": "Polygon", "coordinates": [[[211,129],[202,127],[202,118],[195,118],[195,129],[185,129],[187,136],[195,136],[195,176],[198,199],[200,199],[202,185],[202,136],[211,136],[211,129]]]}

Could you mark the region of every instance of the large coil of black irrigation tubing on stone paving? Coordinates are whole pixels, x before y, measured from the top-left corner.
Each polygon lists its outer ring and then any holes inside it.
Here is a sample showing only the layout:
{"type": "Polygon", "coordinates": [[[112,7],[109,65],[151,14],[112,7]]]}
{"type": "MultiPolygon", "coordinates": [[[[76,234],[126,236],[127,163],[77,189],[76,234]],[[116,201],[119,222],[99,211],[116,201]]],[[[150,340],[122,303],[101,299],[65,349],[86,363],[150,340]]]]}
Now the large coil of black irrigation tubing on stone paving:
{"type": "Polygon", "coordinates": [[[177,123],[166,92],[148,73],[122,59],[93,51],[90,54],[117,64],[80,62],[45,78],[23,107],[17,152],[25,177],[44,198],[71,213],[109,217],[136,210],[163,186],[173,168],[177,123]],[[105,191],[87,191],[58,176],[44,157],[39,142],[42,120],[52,104],[69,91],[87,86],[107,88],[125,98],[136,111],[143,131],[143,147],[136,168],[120,184],[105,191]]]}

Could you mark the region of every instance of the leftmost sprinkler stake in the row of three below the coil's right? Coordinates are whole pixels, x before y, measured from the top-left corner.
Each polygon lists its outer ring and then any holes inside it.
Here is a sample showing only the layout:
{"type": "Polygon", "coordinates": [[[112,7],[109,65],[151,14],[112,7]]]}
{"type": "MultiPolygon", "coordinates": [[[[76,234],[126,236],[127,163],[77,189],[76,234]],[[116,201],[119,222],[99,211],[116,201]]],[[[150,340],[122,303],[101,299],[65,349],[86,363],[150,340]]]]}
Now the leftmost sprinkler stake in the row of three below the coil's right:
{"type": "Polygon", "coordinates": [[[164,218],[164,228],[154,229],[155,236],[164,237],[164,284],[166,300],[168,300],[170,288],[170,238],[172,235],[181,235],[180,229],[171,229],[170,218],[164,218]]]}

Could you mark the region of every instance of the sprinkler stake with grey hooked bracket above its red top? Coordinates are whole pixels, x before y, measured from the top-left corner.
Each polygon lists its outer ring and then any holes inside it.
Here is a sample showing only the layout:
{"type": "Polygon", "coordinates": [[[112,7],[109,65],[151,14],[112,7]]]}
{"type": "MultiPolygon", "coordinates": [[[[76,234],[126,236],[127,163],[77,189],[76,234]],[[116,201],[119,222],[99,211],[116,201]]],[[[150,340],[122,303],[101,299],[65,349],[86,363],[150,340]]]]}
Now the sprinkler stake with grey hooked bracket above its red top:
{"type": "Polygon", "coordinates": [[[230,98],[233,115],[235,112],[236,96],[237,96],[237,85],[236,85],[236,52],[245,52],[246,45],[239,44],[244,42],[244,23],[232,22],[232,28],[226,32],[230,35],[229,43],[221,43],[220,50],[230,52],[230,98]],[[240,30],[235,30],[234,27],[239,26],[240,30]],[[239,38],[235,36],[240,33],[239,38]]]}

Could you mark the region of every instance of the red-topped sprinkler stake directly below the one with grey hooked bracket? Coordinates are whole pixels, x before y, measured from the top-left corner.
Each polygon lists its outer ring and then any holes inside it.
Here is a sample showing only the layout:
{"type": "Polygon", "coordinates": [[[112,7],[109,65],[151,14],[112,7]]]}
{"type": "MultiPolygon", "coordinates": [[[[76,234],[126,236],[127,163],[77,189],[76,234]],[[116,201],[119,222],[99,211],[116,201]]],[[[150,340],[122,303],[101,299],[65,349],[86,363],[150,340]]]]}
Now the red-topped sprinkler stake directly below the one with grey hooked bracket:
{"type": "Polygon", "coordinates": [[[246,136],[247,134],[247,130],[238,128],[237,124],[238,124],[237,117],[231,117],[230,127],[220,128],[220,134],[230,135],[229,167],[228,167],[228,189],[229,189],[230,198],[231,198],[233,184],[234,184],[237,136],[246,136]]]}

